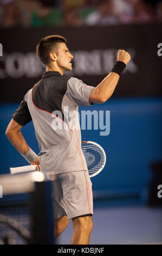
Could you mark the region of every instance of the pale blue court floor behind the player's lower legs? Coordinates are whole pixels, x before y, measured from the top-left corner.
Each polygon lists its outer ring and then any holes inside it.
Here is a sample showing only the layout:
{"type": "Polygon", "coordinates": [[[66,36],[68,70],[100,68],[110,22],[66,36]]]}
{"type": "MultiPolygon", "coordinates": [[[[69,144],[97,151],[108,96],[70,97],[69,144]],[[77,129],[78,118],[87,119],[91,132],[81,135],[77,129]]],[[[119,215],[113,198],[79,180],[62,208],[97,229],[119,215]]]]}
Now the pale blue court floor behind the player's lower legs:
{"type": "MultiPolygon", "coordinates": [[[[144,205],[96,207],[93,215],[91,245],[162,244],[162,208],[144,205]]],[[[57,244],[69,245],[72,221],[57,244]]]]}

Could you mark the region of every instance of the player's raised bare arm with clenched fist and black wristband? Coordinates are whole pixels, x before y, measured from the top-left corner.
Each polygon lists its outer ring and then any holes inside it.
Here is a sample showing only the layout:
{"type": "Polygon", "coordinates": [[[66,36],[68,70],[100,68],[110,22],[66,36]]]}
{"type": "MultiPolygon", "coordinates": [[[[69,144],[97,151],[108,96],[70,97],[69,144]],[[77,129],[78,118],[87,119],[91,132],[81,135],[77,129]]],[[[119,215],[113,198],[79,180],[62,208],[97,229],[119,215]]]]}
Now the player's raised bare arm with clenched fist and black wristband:
{"type": "Polygon", "coordinates": [[[95,87],[89,95],[89,101],[95,103],[104,103],[112,96],[115,87],[119,81],[122,69],[128,64],[131,56],[124,50],[119,50],[116,61],[117,66],[106,76],[101,83],[95,87]],[[121,63],[120,63],[121,62],[121,63]],[[121,71],[120,71],[121,66],[121,71]]]}

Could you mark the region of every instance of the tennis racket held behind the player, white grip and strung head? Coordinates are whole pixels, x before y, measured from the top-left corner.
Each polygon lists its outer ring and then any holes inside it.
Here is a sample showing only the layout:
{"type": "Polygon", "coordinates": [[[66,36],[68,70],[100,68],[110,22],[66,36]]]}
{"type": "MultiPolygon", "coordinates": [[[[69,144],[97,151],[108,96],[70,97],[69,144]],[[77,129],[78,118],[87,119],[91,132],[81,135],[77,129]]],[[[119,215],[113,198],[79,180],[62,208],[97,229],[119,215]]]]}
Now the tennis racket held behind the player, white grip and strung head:
{"type": "MultiPolygon", "coordinates": [[[[105,151],[99,144],[92,141],[83,141],[81,148],[86,159],[90,178],[98,175],[106,163],[105,151]]],[[[37,171],[36,165],[10,168],[10,174],[35,171],[37,171]]]]}

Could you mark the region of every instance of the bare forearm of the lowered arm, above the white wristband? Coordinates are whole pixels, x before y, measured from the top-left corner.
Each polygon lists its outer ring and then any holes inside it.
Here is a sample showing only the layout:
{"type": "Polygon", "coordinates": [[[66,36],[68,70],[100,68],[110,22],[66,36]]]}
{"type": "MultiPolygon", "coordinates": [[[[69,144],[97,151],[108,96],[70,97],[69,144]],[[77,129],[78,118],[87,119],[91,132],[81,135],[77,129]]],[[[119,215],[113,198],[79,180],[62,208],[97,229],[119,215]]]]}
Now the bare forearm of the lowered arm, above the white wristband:
{"type": "Polygon", "coordinates": [[[7,133],[9,141],[21,153],[25,154],[29,150],[29,146],[21,133],[21,131],[11,131],[7,133]]]}

